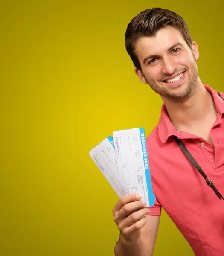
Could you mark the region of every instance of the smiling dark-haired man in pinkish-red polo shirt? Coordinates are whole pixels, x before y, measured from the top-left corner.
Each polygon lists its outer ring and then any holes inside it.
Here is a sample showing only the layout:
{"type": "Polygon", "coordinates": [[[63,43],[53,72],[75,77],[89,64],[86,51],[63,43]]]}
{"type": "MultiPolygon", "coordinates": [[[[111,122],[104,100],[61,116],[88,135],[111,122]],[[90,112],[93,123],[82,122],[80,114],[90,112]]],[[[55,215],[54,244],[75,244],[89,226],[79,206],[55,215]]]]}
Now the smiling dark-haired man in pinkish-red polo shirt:
{"type": "Polygon", "coordinates": [[[179,145],[178,137],[224,195],[224,100],[198,77],[198,46],[175,12],[153,8],[128,24],[125,46],[135,73],[163,99],[156,128],[147,138],[154,194],[148,209],[140,195],[113,208],[120,230],[116,256],[151,256],[161,207],[196,256],[224,255],[224,201],[207,186],[179,145]],[[175,137],[173,137],[175,136],[175,137]],[[151,210],[151,211],[150,211],[151,210]]]}

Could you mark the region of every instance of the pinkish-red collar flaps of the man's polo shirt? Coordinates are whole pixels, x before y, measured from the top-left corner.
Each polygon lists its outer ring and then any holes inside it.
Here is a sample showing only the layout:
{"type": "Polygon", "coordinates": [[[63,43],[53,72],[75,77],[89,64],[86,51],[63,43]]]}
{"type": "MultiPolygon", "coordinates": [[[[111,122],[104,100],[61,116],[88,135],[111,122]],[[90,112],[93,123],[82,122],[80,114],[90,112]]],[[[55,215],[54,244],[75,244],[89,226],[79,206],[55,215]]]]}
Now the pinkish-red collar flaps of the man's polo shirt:
{"type": "MultiPolygon", "coordinates": [[[[213,90],[208,85],[204,84],[204,87],[209,93],[212,94],[218,114],[222,116],[224,114],[223,99],[218,95],[218,93],[215,90],[213,90]]],[[[161,116],[158,123],[158,133],[162,143],[165,143],[168,140],[168,138],[172,135],[177,136],[178,133],[177,129],[172,125],[169,117],[167,116],[167,110],[164,104],[161,108],[161,116]]]]}

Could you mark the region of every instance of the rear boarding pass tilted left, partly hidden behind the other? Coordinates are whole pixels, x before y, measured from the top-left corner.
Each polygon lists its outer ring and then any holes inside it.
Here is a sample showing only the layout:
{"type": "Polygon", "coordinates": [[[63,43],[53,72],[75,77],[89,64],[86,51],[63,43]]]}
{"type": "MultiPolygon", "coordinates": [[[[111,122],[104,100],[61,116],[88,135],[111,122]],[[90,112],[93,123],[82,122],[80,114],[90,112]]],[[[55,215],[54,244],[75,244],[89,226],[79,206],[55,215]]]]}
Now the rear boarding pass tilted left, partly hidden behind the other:
{"type": "Polygon", "coordinates": [[[116,165],[116,157],[113,145],[113,137],[109,136],[95,148],[90,150],[90,157],[96,163],[107,181],[111,184],[119,198],[122,197],[119,175],[116,165]]]}

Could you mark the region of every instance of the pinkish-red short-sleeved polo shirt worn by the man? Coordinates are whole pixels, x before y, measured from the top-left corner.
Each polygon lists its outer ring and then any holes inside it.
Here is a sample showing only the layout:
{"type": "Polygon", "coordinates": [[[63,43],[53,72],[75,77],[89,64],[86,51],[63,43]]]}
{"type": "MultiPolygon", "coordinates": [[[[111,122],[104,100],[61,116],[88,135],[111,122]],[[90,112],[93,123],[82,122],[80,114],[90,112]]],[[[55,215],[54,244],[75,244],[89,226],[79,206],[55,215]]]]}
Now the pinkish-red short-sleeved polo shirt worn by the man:
{"type": "MultiPolygon", "coordinates": [[[[189,242],[196,256],[224,256],[224,201],[207,186],[172,135],[177,136],[224,196],[224,101],[211,87],[218,111],[211,129],[214,143],[177,131],[162,106],[158,125],[147,138],[148,158],[157,198],[149,215],[161,207],[189,242]]],[[[224,93],[221,93],[224,96],[224,93]]]]}

